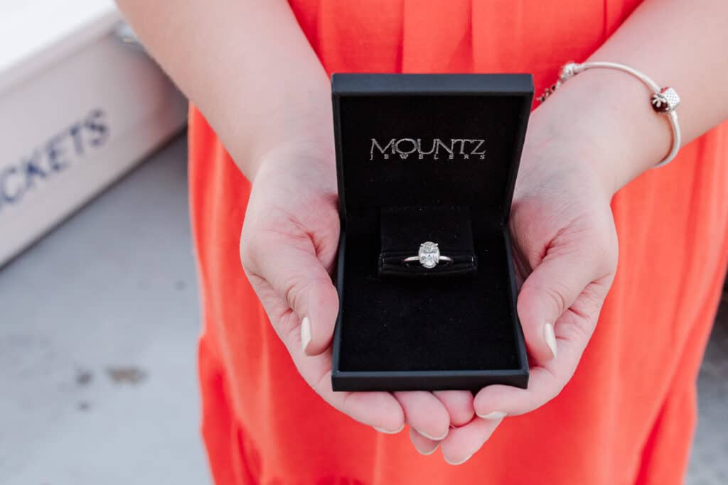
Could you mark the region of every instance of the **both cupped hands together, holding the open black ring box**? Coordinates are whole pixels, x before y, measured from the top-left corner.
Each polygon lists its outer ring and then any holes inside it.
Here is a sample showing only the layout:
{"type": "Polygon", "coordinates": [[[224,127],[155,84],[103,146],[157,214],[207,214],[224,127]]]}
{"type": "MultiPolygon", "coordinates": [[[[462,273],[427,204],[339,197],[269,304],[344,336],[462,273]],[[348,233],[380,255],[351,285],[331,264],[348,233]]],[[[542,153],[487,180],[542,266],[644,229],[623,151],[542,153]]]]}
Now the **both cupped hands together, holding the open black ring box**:
{"type": "Polygon", "coordinates": [[[266,155],[242,228],[241,259],[301,376],[329,404],[378,430],[410,425],[416,449],[441,445],[450,463],[470,458],[504,416],[558,395],[596,326],[614,278],[612,187],[573,146],[529,132],[511,231],[518,315],[531,356],[528,389],[333,392],[331,338],[339,300],[331,270],[339,242],[333,153],[292,146],[266,155]],[[475,415],[477,412],[477,416],[475,415]]]}

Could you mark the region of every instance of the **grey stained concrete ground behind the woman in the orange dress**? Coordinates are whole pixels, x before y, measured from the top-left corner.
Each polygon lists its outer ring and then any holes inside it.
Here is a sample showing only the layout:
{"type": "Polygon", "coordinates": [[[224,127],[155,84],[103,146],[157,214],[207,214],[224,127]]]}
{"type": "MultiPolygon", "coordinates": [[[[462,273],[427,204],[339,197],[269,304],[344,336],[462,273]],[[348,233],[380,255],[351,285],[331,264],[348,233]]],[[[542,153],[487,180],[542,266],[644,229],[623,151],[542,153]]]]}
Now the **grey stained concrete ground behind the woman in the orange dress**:
{"type": "MultiPolygon", "coordinates": [[[[0,270],[0,485],[210,484],[184,138],[0,270]]],[[[728,484],[728,299],[687,483],[728,484]]]]}

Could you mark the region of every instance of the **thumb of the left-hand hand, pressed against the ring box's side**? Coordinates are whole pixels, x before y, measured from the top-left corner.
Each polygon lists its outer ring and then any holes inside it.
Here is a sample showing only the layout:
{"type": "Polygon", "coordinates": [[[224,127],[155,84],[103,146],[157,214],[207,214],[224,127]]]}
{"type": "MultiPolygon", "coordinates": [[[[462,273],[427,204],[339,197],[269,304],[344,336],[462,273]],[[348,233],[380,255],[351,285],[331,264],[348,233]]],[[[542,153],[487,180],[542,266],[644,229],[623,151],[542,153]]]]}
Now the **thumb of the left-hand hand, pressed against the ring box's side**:
{"type": "MultiPolygon", "coordinates": [[[[294,324],[300,323],[301,349],[308,355],[326,350],[333,336],[339,296],[309,236],[283,238],[278,233],[258,231],[256,238],[247,239],[244,229],[240,253],[251,282],[269,283],[298,317],[294,324]]],[[[261,294],[258,297],[263,300],[261,294]]]]}

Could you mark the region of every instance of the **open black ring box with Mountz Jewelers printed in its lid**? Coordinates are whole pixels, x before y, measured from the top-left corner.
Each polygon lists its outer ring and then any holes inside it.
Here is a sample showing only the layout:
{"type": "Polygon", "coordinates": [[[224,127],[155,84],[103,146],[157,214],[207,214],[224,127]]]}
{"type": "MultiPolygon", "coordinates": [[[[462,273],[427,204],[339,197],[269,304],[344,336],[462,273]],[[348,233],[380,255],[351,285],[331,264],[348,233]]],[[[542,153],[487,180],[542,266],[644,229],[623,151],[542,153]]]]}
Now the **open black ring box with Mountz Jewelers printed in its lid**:
{"type": "MultiPolygon", "coordinates": [[[[508,220],[529,74],[334,74],[341,240],[333,390],[525,388],[508,220]],[[472,252],[467,274],[381,272],[386,249],[472,252]]],[[[416,265],[415,265],[416,267],[416,265]]]]}

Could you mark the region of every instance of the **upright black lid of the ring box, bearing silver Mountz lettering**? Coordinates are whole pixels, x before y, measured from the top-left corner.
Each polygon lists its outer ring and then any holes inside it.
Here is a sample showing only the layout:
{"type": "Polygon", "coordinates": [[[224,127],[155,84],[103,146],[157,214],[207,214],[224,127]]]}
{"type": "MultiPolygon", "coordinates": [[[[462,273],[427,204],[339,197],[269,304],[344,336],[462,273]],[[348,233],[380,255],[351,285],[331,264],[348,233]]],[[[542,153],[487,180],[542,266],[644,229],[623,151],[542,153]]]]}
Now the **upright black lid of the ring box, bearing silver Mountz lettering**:
{"type": "Polygon", "coordinates": [[[479,207],[508,219],[530,74],[334,74],[339,201],[479,207]]]}

